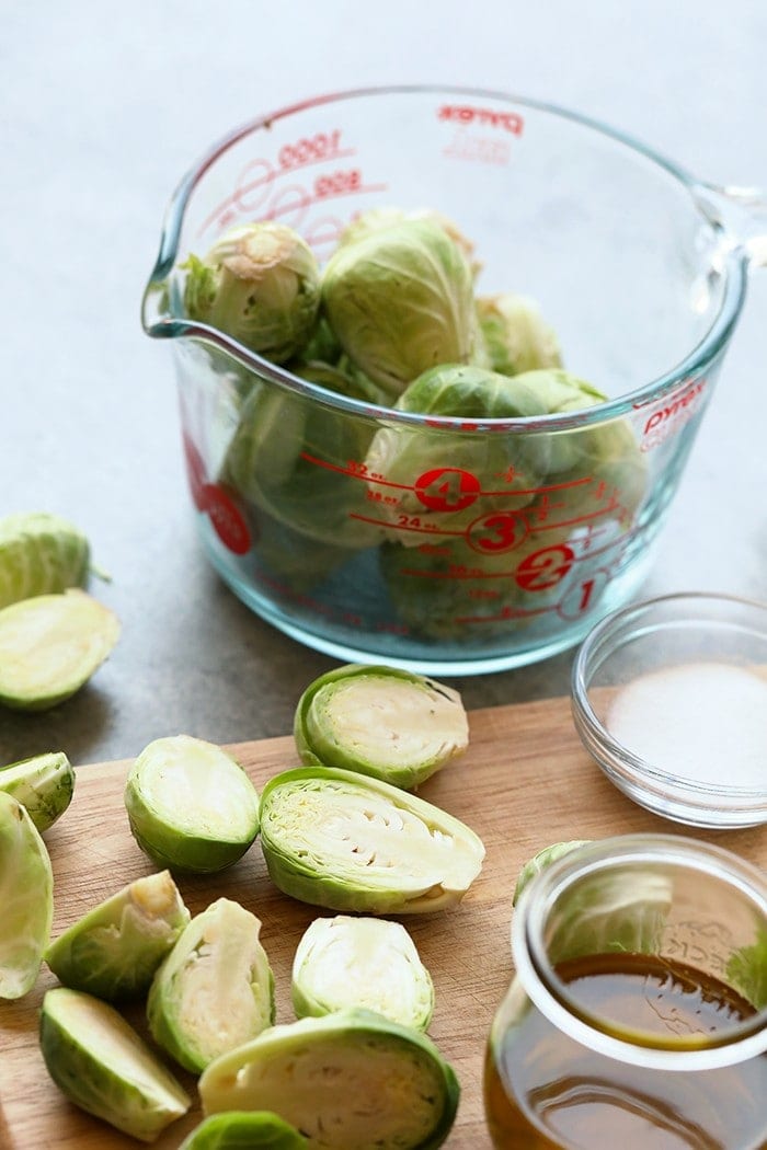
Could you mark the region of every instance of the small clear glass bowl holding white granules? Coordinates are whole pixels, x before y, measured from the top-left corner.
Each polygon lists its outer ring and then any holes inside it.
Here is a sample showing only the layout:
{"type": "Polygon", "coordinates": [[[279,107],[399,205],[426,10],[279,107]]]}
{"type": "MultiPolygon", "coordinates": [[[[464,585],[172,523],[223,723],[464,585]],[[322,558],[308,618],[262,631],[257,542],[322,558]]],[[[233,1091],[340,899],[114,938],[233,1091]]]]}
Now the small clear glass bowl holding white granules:
{"type": "Polygon", "coordinates": [[[767,822],[767,604],[623,607],[583,642],[572,685],[583,745],[629,798],[693,827],[767,822]]]}

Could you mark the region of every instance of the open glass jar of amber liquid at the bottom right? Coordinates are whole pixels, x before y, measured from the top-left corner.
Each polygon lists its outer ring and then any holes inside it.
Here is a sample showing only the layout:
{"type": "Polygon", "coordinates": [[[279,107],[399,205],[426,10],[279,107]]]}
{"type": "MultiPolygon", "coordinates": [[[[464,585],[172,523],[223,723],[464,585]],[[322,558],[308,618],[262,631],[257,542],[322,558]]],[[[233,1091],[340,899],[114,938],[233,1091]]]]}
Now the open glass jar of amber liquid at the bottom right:
{"type": "Polygon", "coordinates": [[[767,1148],[767,880],[678,835],[576,846],[522,891],[490,1033],[514,1150],[767,1148]]]}

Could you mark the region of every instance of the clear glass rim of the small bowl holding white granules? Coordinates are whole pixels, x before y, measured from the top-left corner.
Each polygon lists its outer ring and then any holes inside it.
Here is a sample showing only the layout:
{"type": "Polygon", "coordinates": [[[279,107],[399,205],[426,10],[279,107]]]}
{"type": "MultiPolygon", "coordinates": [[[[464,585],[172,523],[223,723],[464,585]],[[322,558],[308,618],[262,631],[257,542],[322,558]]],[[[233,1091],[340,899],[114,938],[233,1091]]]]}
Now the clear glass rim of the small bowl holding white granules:
{"type": "MultiPolygon", "coordinates": [[[[641,603],[631,603],[618,611],[605,615],[589,631],[585,639],[578,647],[572,669],[572,705],[575,723],[581,734],[585,736],[589,749],[593,753],[595,747],[609,758],[612,769],[620,772],[635,785],[644,780],[646,788],[652,788],[653,793],[666,797],[664,784],[673,784],[674,788],[697,799],[697,805],[701,811],[711,810],[712,803],[718,796],[729,795],[738,799],[744,806],[738,806],[738,812],[745,818],[749,811],[760,812],[765,808],[765,787],[743,787],[723,782],[721,785],[713,783],[699,783],[693,779],[685,779],[681,775],[673,775],[669,772],[654,767],[651,762],[635,754],[630,747],[619,743],[607,728],[601,723],[596,711],[589,700],[591,676],[598,670],[603,662],[619,650],[623,642],[641,638],[644,634],[660,629],[668,629],[674,623],[683,622],[682,616],[677,620],[668,620],[661,626],[647,622],[642,627],[643,616],[650,615],[653,611],[666,605],[689,605],[687,613],[689,619],[695,620],[695,610],[698,605],[721,604],[731,607],[743,607],[761,614],[767,624],[767,604],[758,599],[749,599],[736,595],[711,593],[708,591],[678,591],[670,595],[660,595],[652,599],[644,599],[641,603]]],[[[767,630],[767,626],[766,626],[767,630]]],[[[729,822],[728,826],[735,826],[729,822]]]]}

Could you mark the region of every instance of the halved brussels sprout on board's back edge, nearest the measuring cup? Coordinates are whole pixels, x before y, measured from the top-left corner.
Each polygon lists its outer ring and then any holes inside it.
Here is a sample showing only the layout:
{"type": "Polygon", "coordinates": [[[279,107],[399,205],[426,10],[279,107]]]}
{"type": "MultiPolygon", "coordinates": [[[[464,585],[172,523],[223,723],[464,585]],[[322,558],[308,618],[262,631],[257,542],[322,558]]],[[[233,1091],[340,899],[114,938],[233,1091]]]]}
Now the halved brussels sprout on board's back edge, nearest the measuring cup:
{"type": "Polygon", "coordinates": [[[350,664],[307,687],[293,735],[306,766],[409,788],[466,750],[469,726],[453,688],[394,667],[350,664]]]}

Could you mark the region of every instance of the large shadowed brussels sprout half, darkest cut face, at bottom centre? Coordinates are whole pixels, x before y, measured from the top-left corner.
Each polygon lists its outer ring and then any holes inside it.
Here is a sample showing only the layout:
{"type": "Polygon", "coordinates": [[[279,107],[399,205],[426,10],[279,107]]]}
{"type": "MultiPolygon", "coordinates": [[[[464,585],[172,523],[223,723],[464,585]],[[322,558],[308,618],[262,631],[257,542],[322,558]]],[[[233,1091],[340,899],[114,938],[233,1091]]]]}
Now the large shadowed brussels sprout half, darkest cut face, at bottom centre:
{"type": "Polygon", "coordinates": [[[222,1055],[199,1082],[202,1110],[269,1109],[328,1150],[431,1150],[460,1087],[423,1034],[371,1011],[305,1018],[222,1055]]]}

